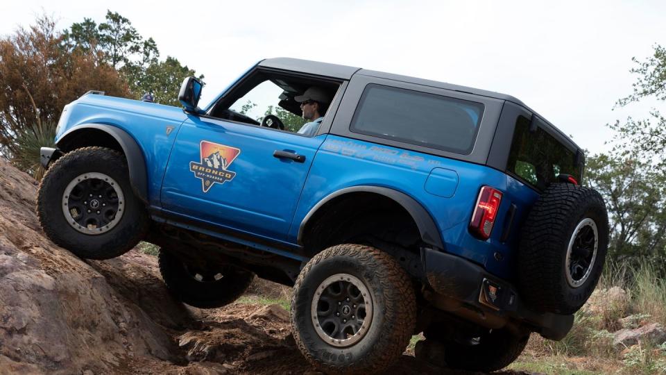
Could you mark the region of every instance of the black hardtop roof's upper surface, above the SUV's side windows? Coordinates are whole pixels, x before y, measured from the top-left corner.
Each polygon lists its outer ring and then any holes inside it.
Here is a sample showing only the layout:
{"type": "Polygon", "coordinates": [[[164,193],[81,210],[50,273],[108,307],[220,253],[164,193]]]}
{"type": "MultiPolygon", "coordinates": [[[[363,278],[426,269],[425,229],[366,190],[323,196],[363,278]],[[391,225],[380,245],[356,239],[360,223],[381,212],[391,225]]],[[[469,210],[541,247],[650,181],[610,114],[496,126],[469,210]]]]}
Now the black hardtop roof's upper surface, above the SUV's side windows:
{"type": "Polygon", "coordinates": [[[267,58],[266,60],[260,61],[258,65],[260,67],[285,69],[285,70],[291,70],[291,71],[296,71],[296,72],[303,72],[303,73],[307,73],[307,74],[315,74],[315,75],[318,75],[318,76],[339,78],[339,79],[344,79],[344,80],[350,80],[353,75],[360,74],[360,75],[363,75],[363,76],[372,76],[372,77],[377,77],[377,78],[385,78],[385,79],[390,79],[390,80],[393,80],[393,81],[414,83],[416,85],[431,86],[431,87],[434,87],[434,88],[442,88],[442,89],[445,89],[445,90],[466,92],[468,94],[475,94],[475,95],[480,95],[480,96],[483,96],[483,97],[490,97],[490,98],[495,98],[495,99],[500,99],[500,100],[511,101],[512,103],[518,104],[519,106],[522,106],[525,109],[529,110],[534,115],[538,115],[538,117],[543,119],[547,125],[552,127],[553,131],[556,131],[557,133],[562,135],[567,141],[571,142],[573,147],[582,151],[582,149],[569,136],[567,136],[565,133],[563,133],[556,126],[554,126],[553,124],[548,122],[548,120],[545,119],[545,117],[539,115],[535,110],[532,110],[525,103],[520,101],[520,99],[518,99],[516,97],[512,97],[511,95],[501,94],[499,92],[493,92],[493,91],[488,91],[488,90],[481,90],[481,89],[477,89],[477,88],[469,88],[467,86],[453,85],[452,83],[431,81],[429,79],[424,79],[424,78],[415,78],[415,77],[411,77],[411,76],[402,76],[400,74],[377,72],[375,70],[361,69],[359,67],[349,67],[347,65],[337,65],[337,64],[330,64],[330,63],[321,63],[321,62],[318,62],[318,61],[302,60],[300,58],[267,58]]]}

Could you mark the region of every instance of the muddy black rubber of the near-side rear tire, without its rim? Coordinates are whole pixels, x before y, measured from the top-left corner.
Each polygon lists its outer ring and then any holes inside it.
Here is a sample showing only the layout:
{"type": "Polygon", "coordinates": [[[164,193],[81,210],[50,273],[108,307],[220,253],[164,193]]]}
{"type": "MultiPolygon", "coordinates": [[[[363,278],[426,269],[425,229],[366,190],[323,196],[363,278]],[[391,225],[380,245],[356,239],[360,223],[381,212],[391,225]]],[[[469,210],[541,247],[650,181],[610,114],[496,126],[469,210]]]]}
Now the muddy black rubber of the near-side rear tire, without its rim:
{"type": "Polygon", "coordinates": [[[300,272],[291,297],[291,328],[305,358],[331,374],[375,374],[398,360],[416,324],[416,297],[409,276],[398,262],[373,247],[340,244],[318,253],[300,272]],[[311,303],[318,285],[336,274],[358,278],[373,303],[370,326],[349,347],[321,338],[311,303]]]}

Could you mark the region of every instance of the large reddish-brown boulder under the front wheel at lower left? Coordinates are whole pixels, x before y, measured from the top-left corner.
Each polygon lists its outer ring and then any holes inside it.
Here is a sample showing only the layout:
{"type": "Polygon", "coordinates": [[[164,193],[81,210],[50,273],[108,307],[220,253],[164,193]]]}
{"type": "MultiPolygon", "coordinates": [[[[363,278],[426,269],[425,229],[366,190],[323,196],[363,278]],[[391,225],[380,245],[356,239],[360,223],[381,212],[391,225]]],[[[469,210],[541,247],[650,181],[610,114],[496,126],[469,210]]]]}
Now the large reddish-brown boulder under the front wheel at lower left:
{"type": "Polygon", "coordinates": [[[36,190],[0,160],[0,369],[112,373],[140,356],[173,359],[176,343],[132,296],[44,237],[36,190]]]}

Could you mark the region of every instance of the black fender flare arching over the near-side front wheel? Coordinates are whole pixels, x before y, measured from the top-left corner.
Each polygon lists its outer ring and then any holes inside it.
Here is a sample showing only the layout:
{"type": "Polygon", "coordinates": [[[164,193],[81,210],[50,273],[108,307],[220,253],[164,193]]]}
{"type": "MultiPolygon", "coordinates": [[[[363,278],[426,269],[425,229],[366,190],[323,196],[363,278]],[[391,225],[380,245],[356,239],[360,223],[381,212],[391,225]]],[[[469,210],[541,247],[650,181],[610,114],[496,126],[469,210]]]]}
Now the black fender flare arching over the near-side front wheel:
{"type": "MultiPolygon", "coordinates": [[[[146,172],[146,159],[144,158],[144,153],[141,151],[141,147],[139,147],[137,141],[126,131],[123,131],[123,129],[106,124],[79,125],[69,129],[69,131],[65,132],[65,134],[60,137],[56,144],[58,149],[71,151],[71,149],[67,148],[67,143],[73,140],[81,131],[85,131],[86,129],[103,131],[118,142],[127,159],[127,167],[130,172],[132,189],[139,199],[144,201],[144,203],[148,203],[148,173],[146,172]]],[[[90,145],[94,146],[94,142],[90,142],[90,145]]]]}

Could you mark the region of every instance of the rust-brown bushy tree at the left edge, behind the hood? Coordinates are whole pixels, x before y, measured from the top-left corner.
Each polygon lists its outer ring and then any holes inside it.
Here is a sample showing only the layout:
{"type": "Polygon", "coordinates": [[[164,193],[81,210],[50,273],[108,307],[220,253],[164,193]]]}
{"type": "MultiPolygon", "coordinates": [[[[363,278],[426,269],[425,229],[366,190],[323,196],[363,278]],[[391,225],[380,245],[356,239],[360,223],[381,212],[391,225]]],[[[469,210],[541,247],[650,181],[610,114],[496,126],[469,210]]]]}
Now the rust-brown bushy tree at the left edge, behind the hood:
{"type": "Polygon", "coordinates": [[[127,83],[113,67],[100,63],[94,49],[63,53],[62,42],[62,33],[46,16],[0,39],[0,151],[8,158],[17,151],[19,134],[57,123],[62,108],[88,90],[130,95],[127,83]]]}

